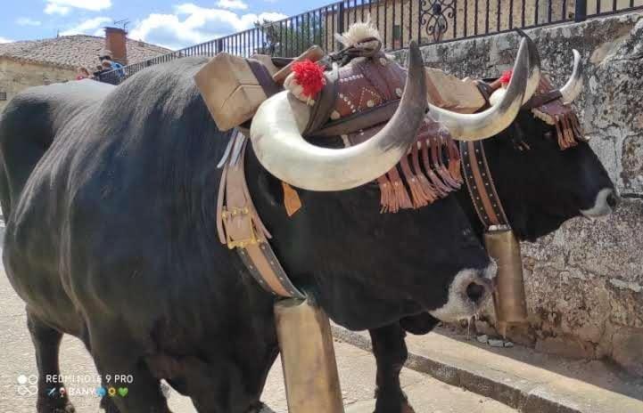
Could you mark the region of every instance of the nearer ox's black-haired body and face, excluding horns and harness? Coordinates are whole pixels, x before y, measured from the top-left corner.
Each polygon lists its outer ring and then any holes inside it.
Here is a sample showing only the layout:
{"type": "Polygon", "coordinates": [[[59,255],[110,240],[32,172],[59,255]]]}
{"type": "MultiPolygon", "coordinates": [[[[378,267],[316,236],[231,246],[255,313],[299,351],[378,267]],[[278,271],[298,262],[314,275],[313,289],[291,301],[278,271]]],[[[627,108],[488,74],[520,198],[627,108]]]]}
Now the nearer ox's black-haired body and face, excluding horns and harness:
{"type": "MultiPolygon", "coordinates": [[[[168,411],[161,378],[200,411],[255,411],[278,352],[273,298],[218,243],[216,165],[229,136],[194,86],[205,62],[169,62],[115,88],[33,89],[0,122],[3,258],[39,373],[56,374],[60,334],[78,336],[99,373],[135,377],[131,397],[103,399],[121,413],[168,411]]],[[[251,150],[246,170],[285,271],[348,328],[448,307],[458,274],[490,267],[453,197],[380,215],[375,183],[301,191],[288,218],[280,182],[251,150]]]]}

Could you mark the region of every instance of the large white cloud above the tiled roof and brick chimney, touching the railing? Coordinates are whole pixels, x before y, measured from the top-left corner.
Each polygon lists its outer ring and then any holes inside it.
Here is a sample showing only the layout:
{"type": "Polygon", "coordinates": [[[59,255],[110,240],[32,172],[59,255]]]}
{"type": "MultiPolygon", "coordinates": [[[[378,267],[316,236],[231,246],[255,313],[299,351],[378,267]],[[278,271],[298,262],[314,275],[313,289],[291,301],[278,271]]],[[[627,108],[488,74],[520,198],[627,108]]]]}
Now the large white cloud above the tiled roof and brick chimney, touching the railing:
{"type": "Polygon", "coordinates": [[[179,4],[174,14],[153,13],[136,22],[129,36],[154,45],[180,49],[252,28],[255,21],[281,20],[277,12],[237,14],[229,10],[209,9],[196,4],[179,4]]]}

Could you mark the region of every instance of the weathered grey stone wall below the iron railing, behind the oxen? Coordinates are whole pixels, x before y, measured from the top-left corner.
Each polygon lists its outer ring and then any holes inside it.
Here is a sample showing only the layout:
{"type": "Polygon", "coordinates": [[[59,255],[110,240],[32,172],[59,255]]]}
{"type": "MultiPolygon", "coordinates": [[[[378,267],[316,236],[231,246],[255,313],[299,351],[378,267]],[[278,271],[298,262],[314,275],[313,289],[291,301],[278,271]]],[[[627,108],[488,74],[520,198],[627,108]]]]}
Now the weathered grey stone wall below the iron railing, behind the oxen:
{"type": "MultiPolygon", "coordinates": [[[[523,243],[530,325],[508,336],[542,352],[608,358],[643,376],[643,14],[529,34],[557,84],[571,72],[571,49],[583,55],[576,107],[623,201],[606,221],[574,219],[523,243]]],[[[425,46],[423,54],[428,66],[458,77],[490,77],[510,67],[517,43],[506,34],[425,46]]]]}

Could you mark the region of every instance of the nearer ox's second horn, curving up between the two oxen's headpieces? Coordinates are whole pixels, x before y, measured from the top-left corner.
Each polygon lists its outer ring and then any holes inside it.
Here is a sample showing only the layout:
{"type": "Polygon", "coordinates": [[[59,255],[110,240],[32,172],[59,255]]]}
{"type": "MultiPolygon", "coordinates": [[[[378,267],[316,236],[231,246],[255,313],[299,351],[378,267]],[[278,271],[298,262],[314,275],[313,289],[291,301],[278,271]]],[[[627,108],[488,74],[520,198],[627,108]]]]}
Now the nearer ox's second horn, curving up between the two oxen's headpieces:
{"type": "Polygon", "coordinates": [[[523,105],[530,77],[529,49],[531,47],[523,38],[514,64],[514,72],[507,86],[507,93],[498,104],[480,113],[461,114],[429,103],[431,117],[446,126],[451,136],[459,141],[480,141],[507,129],[523,105]]]}

